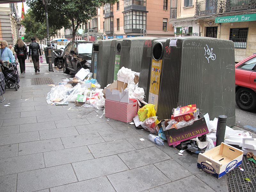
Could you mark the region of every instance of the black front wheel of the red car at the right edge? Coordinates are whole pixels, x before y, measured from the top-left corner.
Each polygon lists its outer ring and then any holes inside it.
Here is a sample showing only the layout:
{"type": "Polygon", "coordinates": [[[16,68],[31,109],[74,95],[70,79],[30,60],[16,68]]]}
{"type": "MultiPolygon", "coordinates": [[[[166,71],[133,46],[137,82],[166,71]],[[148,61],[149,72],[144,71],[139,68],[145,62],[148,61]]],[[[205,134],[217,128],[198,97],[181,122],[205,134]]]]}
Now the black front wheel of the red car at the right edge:
{"type": "Polygon", "coordinates": [[[256,108],[256,93],[252,89],[241,87],[236,91],[236,104],[245,111],[256,108]]]}

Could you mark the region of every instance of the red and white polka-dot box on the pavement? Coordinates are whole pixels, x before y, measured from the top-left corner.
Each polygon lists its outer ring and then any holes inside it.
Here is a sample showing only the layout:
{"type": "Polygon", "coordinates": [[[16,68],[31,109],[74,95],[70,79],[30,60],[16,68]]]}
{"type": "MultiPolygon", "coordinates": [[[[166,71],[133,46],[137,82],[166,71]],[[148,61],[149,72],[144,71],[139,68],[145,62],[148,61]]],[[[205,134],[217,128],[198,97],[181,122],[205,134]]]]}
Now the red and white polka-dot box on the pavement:
{"type": "Polygon", "coordinates": [[[110,119],[122,121],[124,123],[132,122],[138,113],[138,101],[130,99],[130,103],[123,103],[114,100],[105,100],[105,116],[110,119]],[[132,103],[131,103],[132,102],[132,103]]]}

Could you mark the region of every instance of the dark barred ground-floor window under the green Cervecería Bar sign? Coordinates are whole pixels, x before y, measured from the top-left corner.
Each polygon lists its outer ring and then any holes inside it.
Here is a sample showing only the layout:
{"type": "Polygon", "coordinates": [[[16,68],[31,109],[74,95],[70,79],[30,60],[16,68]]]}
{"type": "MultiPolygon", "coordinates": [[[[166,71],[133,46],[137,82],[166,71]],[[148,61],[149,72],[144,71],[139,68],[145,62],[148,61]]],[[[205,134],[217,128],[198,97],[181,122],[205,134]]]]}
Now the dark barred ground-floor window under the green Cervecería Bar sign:
{"type": "Polygon", "coordinates": [[[230,29],[229,40],[234,42],[235,48],[246,48],[248,28],[230,29]]]}

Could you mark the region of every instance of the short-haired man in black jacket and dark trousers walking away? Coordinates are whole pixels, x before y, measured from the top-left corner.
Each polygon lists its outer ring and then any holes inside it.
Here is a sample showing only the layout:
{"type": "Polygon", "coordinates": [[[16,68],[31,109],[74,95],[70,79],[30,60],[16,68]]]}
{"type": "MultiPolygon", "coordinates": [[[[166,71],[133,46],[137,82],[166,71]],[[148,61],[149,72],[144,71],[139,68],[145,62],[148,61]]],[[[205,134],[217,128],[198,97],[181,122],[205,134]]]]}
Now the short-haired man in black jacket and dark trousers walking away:
{"type": "Polygon", "coordinates": [[[38,43],[36,43],[36,38],[31,37],[31,43],[29,44],[29,57],[31,56],[31,59],[34,63],[35,72],[40,72],[39,67],[39,55],[41,56],[41,48],[38,43]]]}

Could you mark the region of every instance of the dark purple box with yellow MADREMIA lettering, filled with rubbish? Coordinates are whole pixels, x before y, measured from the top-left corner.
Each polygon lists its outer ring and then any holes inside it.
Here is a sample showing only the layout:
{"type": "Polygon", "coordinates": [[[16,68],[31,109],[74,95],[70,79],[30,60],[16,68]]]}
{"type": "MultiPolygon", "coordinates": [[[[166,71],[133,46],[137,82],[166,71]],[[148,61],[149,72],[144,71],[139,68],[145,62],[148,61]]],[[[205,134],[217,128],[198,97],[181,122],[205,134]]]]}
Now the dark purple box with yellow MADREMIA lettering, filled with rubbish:
{"type": "Polygon", "coordinates": [[[201,115],[200,119],[196,120],[192,125],[180,129],[172,128],[167,130],[168,121],[170,119],[163,121],[162,127],[169,146],[209,133],[204,116],[201,115]]]}

